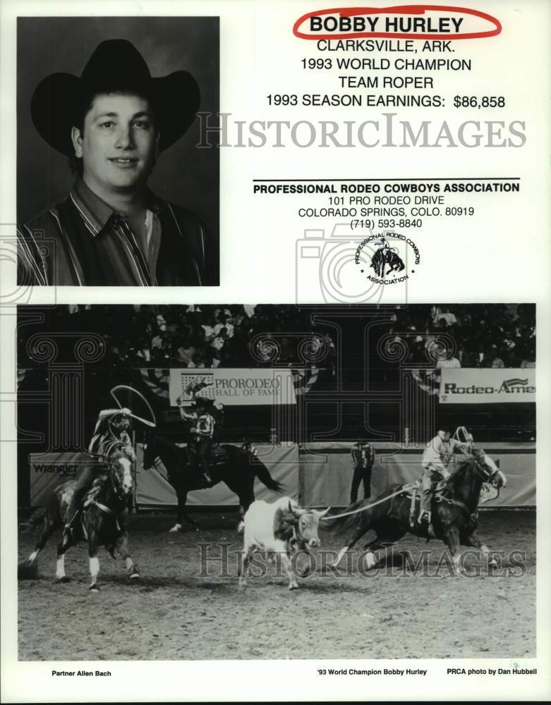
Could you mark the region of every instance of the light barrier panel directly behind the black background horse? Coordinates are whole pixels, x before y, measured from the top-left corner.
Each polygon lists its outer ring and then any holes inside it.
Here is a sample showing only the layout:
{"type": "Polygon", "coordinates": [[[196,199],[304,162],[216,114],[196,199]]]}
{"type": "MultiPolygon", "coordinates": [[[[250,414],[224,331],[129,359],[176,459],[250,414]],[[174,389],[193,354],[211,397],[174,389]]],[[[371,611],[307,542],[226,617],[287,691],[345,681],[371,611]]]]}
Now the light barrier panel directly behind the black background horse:
{"type": "MultiPolygon", "coordinates": [[[[295,444],[270,446],[258,443],[257,457],[262,460],[277,482],[284,486],[284,493],[293,498],[298,497],[298,446],[295,444]]],[[[176,492],[166,479],[166,469],[159,462],[157,468],[143,470],[143,448],[136,446],[136,503],[138,506],[176,505],[176,492]]],[[[255,498],[273,502],[277,495],[267,489],[260,480],[255,480],[255,498]]],[[[210,489],[196,490],[188,494],[188,505],[236,505],[237,496],[223,482],[210,489]]]]}

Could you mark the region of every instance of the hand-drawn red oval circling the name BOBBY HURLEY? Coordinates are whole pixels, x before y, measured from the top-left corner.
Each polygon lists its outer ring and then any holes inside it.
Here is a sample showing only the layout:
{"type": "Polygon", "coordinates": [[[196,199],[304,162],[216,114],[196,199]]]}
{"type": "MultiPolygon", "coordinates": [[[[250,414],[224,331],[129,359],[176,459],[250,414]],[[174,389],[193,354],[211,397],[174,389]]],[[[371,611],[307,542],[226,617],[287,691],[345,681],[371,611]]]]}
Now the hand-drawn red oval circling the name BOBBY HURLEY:
{"type": "Polygon", "coordinates": [[[399,5],[394,7],[344,7],[344,8],[332,8],[329,10],[317,10],[314,12],[308,12],[302,17],[296,20],[293,25],[293,35],[299,39],[359,39],[361,37],[387,37],[394,39],[483,39],[484,37],[495,37],[499,35],[502,30],[502,25],[499,20],[488,13],[482,12],[480,10],[471,10],[471,8],[466,7],[454,7],[449,5],[399,5]],[[459,12],[465,15],[473,15],[475,17],[480,17],[483,20],[487,20],[495,25],[494,30],[488,30],[488,32],[466,32],[465,34],[455,35],[450,37],[449,34],[423,34],[423,35],[411,35],[405,34],[404,32],[346,32],[345,34],[332,34],[332,35],[305,35],[298,31],[298,27],[308,20],[310,17],[320,16],[320,15],[332,15],[339,13],[341,17],[351,17],[353,15],[377,15],[377,14],[391,14],[396,15],[424,15],[427,10],[447,10],[452,12],[459,12]]]}

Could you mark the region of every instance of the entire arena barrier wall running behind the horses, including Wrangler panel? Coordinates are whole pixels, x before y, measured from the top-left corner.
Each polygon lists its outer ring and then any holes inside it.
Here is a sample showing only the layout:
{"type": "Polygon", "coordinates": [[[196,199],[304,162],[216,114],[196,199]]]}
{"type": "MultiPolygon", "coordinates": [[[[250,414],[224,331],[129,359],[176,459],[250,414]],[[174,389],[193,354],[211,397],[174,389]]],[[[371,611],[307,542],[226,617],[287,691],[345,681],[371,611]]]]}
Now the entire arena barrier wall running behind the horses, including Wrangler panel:
{"type": "MultiPolygon", "coordinates": [[[[378,494],[389,484],[411,482],[421,473],[422,448],[397,449],[389,443],[373,443],[371,491],[378,494]]],[[[285,486],[285,494],[299,498],[303,505],[346,506],[349,503],[353,468],[350,443],[310,443],[276,446],[258,444],[258,454],[272,477],[285,486]]],[[[488,507],[535,506],[535,443],[492,443],[484,446],[487,453],[507,475],[507,487],[488,507]]],[[[164,478],[164,469],[142,470],[143,451],[138,443],[136,470],[138,506],[176,505],[176,494],[164,478]]],[[[54,487],[73,479],[90,456],[80,453],[37,453],[30,456],[30,503],[44,505],[54,487]]],[[[363,488],[360,487],[359,497],[363,488]]],[[[258,480],[258,499],[273,501],[275,495],[258,480]]],[[[190,492],[189,505],[235,505],[236,496],[220,483],[212,489],[190,492]]]]}

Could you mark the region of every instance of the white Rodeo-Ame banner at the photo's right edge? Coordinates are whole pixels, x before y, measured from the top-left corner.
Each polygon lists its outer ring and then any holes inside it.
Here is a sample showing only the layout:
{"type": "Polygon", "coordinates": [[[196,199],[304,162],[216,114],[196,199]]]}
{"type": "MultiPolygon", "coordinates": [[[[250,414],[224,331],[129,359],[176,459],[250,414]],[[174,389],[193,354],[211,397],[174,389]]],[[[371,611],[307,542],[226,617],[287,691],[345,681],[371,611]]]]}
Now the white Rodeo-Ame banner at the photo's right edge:
{"type": "Polygon", "coordinates": [[[535,369],[444,368],[441,404],[535,403],[535,369]]]}

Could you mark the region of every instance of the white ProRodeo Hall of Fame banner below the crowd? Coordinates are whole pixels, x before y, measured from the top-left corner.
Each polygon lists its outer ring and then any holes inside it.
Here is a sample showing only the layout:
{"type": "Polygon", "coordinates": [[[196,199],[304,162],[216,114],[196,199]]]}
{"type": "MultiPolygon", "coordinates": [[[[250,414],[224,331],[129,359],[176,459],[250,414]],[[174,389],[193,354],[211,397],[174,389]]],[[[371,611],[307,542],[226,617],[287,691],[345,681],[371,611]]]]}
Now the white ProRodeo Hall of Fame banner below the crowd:
{"type": "Polygon", "coordinates": [[[171,369],[171,406],[176,399],[206,397],[228,405],[296,404],[293,374],[289,369],[171,369]]]}

